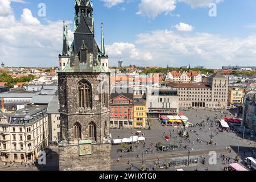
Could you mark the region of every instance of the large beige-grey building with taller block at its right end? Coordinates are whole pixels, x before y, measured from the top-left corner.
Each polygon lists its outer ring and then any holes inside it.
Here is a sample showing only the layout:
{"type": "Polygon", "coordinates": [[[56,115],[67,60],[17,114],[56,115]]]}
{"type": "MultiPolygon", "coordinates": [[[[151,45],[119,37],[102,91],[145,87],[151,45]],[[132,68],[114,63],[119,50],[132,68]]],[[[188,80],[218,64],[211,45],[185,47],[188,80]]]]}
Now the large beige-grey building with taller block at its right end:
{"type": "Polygon", "coordinates": [[[167,84],[177,89],[179,107],[226,108],[228,106],[228,78],[214,73],[208,82],[167,84]]]}

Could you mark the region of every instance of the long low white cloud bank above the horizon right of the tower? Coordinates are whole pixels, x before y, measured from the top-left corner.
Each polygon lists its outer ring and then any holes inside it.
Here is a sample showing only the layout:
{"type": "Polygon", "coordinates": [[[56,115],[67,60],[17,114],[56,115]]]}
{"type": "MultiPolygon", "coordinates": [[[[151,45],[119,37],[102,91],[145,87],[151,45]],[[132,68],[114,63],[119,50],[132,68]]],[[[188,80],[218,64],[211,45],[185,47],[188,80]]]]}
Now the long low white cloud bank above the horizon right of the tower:
{"type": "Polygon", "coordinates": [[[250,65],[256,57],[256,34],[246,38],[226,38],[208,33],[179,34],[170,30],[156,30],[139,34],[135,43],[114,43],[108,46],[110,59],[120,57],[124,64],[173,67],[205,65],[250,65]],[[138,48],[139,47],[139,48],[138,48]],[[147,57],[148,55],[148,57],[147,57]]]}

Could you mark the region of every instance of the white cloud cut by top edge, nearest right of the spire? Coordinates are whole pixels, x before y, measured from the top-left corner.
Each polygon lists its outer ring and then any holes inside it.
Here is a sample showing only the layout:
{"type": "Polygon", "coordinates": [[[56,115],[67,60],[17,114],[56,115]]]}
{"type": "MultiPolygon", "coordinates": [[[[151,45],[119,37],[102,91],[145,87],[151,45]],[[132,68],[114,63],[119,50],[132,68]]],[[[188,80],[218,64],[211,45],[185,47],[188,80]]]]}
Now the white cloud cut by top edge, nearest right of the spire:
{"type": "Polygon", "coordinates": [[[162,13],[169,14],[175,10],[175,2],[176,0],[141,0],[137,14],[150,18],[155,18],[162,13]]]}

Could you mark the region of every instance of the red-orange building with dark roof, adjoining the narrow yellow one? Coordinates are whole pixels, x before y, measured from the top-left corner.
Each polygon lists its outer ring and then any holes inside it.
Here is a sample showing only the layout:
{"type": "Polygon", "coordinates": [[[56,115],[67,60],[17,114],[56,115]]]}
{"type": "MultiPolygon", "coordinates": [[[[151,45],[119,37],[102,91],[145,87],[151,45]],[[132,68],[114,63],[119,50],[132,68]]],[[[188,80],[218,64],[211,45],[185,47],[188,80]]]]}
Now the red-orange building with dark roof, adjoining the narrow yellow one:
{"type": "Polygon", "coordinates": [[[110,127],[133,127],[133,89],[122,88],[119,90],[114,88],[114,90],[110,95],[110,127]]]}

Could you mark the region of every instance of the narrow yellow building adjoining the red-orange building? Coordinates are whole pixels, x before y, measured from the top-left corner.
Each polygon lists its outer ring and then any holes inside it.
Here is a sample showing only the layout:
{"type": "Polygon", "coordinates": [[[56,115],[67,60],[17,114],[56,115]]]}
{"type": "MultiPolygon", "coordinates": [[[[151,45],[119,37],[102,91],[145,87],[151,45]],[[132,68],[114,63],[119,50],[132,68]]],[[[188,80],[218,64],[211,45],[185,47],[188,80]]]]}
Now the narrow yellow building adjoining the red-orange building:
{"type": "Polygon", "coordinates": [[[146,101],[143,98],[135,98],[133,127],[145,127],[146,118],[146,101]]]}

